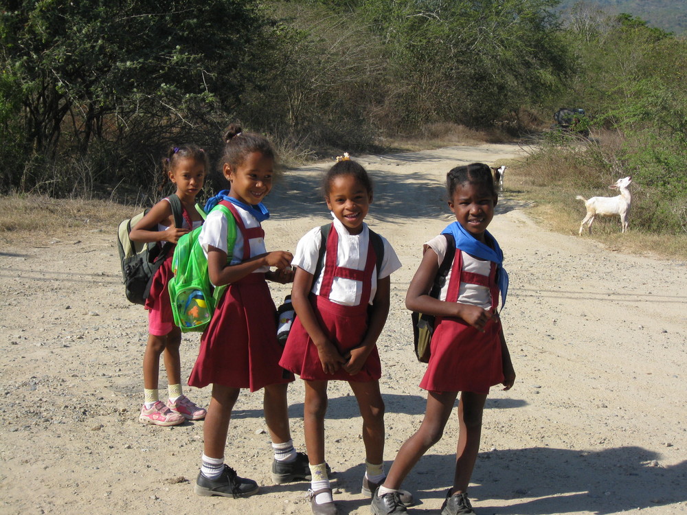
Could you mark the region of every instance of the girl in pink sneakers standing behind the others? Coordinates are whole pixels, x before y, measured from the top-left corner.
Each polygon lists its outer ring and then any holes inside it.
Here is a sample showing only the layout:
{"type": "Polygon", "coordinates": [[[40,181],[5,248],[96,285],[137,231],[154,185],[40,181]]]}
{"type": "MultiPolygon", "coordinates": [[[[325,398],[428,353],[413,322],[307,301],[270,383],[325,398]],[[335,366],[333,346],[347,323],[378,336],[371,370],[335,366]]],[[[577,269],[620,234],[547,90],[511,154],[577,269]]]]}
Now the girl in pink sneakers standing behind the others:
{"type": "Polygon", "coordinates": [[[195,204],[196,195],[203,189],[207,157],[203,149],[195,145],[172,147],[162,165],[165,176],[177,185],[176,194],[181,201],[183,224],[174,227],[170,199],[163,198],[131,229],[129,238],[136,242],[165,244],[166,251],[163,264],[153,275],[150,295],[146,299],[148,343],[143,358],[144,404],[139,420],[156,426],[176,426],[185,420],[205,417],[205,409],[191,402],[181,389],[181,330],[174,325],[167,284],[172,278],[174,245],[181,236],[203,223],[195,204]],[[160,355],[163,352],[169,383],[166,404],[159,399],[157,390],[160,355]]]}

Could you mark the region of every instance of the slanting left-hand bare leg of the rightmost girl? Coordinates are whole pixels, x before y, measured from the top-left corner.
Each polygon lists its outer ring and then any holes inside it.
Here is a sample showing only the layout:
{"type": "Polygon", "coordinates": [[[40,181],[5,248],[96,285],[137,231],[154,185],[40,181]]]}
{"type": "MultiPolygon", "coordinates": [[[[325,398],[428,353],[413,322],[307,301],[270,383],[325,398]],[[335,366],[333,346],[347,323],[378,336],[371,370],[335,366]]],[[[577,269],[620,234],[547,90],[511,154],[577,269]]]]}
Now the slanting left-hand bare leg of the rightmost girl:
{"type": "Polygon", "coordinates": [[[427,393],[425,420],[423,420],[418,431],[407,439],[401,449],[398,450],[394,464],[387,474],[386,481],[384,481],[386,488],[393,490],[401,488],[401,483],[415,464],[431,446],[441,439],[444,427],[449,416],[451,416],[451,409],[453,409],[456,396],[458,396],[457,391],[441,393],[430,391],[427,393]]]}

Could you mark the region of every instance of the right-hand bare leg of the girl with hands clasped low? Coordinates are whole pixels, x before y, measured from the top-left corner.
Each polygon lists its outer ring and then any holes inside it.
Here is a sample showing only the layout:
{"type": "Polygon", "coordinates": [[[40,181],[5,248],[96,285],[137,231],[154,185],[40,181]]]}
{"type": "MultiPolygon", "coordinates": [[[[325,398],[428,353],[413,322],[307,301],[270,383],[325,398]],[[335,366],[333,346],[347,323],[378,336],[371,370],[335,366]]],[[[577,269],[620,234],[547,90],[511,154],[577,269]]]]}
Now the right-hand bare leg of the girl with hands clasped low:
{"type": "Polygon", "coordinates": [[[379,382],[349,382],[360,415],[363,417],[363,444],[368,463],[384,461],[384,401],[379,392],[379,382]]]}

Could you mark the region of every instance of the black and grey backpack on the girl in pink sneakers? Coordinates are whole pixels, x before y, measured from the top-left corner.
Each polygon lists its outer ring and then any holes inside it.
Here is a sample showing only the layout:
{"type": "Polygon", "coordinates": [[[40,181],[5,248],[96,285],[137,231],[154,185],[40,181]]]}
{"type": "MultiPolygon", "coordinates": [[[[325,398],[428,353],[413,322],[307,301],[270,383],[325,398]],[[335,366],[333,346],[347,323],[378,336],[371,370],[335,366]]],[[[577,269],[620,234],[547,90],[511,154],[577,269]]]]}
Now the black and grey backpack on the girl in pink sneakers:
{"type": "MultiPolygon", "coordinates": [[[[183,209],[181,201],[176,194],[168,196],[174,215],[174,226],[183,225],[183,209]]],[[[150,284],[153,276],[160,265],[164,262],[166,255],[173,247],[170,242],[159,245],[157,242],[134,242],[129,238],[129,233],[135,225],[146,216],[150,209],[142,213],[127,218],[120,222],[117,228],[117,249],[120,251],[122,262],[122,278],[124,279],[124,290],[126,299],[134,304],[146,304],[146,299],[150,295],[150,284]]]]}

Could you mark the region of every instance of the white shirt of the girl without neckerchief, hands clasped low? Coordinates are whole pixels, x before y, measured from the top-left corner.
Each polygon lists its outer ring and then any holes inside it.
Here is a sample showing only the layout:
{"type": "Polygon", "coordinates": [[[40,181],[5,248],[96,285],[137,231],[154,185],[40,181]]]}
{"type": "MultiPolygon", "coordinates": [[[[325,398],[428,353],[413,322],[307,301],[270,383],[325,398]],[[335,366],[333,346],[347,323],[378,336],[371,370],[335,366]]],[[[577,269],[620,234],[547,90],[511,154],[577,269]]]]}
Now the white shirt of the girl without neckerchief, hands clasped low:
{"type": "MultiPolygon", "coordinates": [[[[354,270],[364,270],[365,261],[368,257],[368,244],[370,244],[370,229],[368,225],[363,222],[363,230],[360,234],[350,234],[348,229],[343,224],[334,218],[334,228],[339,235],[339,249],[337,249],[337,265],[343,268],[353,268],[354,270]]],[[[401,268],[401,261],[398,260],[396,251],[386,238],[381,237],[384,244],[384,258],[381,263],[381,270],[379,271],[379,279],[390,276],[398,268],[401,268]]],[[[314,274],[317,268],[317,258],[319,257],[319,246],[322,242],[322,236],[319,227],[315,227],[308,231],[303,238],[300,239],[296,247],[296,253],[293,256],[291,264],[298,266],[304,271],[314,274]]],[[[327,259],[325,251],[322,258],[322,269],[324,271],[324,263],[327,259]]],[[[312,293],[319,295],[319,288],[322,286],[322,275],[315,277],[313,280],[312,293]]],[[[376,266],[372,271],[372,285],[370,288],[370,304],[374,299],[374,294],[377,290],[377,271],[376,266]]],[[[329,300],[342,306],[358,306],[360,298],[363,293],[363,282],[355,279],[345,279],[343,277],[334,277],[332,284],[332,291],[329,295],[329,300]]]]}

